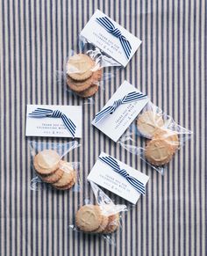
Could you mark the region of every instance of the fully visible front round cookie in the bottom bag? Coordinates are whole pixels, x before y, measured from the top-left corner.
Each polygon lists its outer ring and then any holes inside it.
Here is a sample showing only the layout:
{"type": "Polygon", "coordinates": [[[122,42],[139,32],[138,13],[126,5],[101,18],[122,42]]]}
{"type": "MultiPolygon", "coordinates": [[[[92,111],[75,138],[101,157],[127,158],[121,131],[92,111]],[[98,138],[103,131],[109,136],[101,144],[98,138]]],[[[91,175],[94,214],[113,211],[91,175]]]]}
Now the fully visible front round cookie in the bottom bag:
{"type": "Polygon", "coordinates": [[[77,227],[85,232],[97,230],[102,223],[101,209],[97,205],[84,205],[76,212],[75,223],[77,227]]]}

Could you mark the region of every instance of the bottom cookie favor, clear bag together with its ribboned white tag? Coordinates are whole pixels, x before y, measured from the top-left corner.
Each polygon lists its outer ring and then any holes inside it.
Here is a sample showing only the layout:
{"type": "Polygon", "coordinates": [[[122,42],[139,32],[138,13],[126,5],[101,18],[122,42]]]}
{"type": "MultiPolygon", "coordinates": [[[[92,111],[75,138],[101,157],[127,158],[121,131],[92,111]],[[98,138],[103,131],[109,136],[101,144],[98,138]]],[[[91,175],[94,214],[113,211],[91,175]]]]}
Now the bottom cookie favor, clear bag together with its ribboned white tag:
{"type": "Polygon", "coordinates": [[[70,225],[75,231],[102,235],[115,245],[113,234],[120,229],[120,213],[134,208],[141,195],[146,194],[149,177],[129,165],[102,152],[87,177],[96,201],[85,198],[76,209],[74,223],[70,225]],[[110,191],[111,198],[100,187],[110,191]],[[119,197],[119,199],[118,199],[119,197]],[[115,201],[125,200],[125,204],[115,201]]]}

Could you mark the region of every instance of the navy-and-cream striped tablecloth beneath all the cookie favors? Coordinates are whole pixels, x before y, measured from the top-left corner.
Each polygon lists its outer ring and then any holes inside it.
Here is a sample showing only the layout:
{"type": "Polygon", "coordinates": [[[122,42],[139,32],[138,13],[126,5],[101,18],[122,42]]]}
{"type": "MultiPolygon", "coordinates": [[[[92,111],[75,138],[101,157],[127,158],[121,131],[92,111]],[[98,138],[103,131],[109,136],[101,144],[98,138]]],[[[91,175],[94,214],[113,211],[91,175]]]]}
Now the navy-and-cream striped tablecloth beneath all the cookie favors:
{"type": "Polygon", "coordinates": [[[0,255],[206,255],[206,1],[0,2],[0,255]],[[82,104],[57,83],[55,71],[96,8],[137,35],[141,48],[93,105],[82,105],[82,147],[70,156],[82,162],[82,192],[31,191],[25,106],[82,104]],[[164,177],[90,125],[124,79],[194,132],[164,177]],[[92,196],[86,177],[101,150],[150,176],[146,196],[124,216],[116,246],[68,229],[78,204],[92,196]]]}

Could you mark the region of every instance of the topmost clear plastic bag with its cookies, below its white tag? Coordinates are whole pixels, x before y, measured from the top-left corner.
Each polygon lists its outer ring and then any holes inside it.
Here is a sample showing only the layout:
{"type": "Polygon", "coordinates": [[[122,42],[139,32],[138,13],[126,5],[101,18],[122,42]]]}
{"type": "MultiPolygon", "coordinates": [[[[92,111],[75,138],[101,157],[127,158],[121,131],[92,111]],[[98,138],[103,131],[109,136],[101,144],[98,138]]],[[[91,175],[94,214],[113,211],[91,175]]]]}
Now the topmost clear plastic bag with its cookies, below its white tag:
{"type": "MultiPolygon", "coordinates": [[[[91,99],[97,91],[104,90],[103,81],[115,76],[121,65],[111,56],[84,37],[79,37],[79,49],[70,49],[68,57],[63,63],[63,71],[56,72],[59,84],[63,83],[69,93],[73,93],[82,99],[91,99]]],[[[85,100],[93,103],[93,100],[85,100]]]]}

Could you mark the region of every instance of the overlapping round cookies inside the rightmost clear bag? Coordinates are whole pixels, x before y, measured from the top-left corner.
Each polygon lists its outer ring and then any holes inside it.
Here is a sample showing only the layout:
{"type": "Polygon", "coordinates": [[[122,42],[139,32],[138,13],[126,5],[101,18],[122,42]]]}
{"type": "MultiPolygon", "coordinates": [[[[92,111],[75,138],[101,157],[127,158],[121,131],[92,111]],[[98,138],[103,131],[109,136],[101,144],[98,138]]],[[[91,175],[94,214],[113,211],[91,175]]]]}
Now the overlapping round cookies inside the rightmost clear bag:
{"type": "Polygon", "coordinates": [[[146,111],[139,115],[139,132],[151,140],[146,143],[146,160],[155,166],[168,164],[179,148],[179,138],[175,131],[163,128],[161,114],[146,111]]]}

